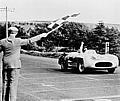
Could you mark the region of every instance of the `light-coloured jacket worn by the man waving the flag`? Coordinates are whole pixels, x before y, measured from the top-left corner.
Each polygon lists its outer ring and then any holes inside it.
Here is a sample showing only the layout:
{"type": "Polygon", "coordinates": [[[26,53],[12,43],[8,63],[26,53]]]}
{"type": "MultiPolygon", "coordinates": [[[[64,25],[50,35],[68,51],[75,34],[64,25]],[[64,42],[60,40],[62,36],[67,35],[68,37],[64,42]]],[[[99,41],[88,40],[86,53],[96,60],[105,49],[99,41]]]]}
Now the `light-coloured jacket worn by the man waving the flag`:
{"type": "Polygon", "coordinates": [[[22,45],[27,45],[40,39],[40,36],[35,36],[30,39],[21,38],[5,38],[0,40],[0,51],[3,51],[3,69],[21,68],[20,49],[22,45]]]}

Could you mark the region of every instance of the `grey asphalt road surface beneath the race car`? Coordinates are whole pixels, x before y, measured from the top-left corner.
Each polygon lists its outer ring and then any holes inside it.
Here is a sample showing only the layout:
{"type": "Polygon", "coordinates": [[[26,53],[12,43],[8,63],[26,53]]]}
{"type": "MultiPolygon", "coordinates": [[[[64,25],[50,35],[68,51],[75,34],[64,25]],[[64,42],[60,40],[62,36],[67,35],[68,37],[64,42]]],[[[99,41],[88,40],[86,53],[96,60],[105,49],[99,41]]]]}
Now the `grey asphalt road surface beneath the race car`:
{"type": "Polygon", "coordinates": [[[62,72],[57,59],[21,55],[17,101],[120,101],[120,69],[114,74],[62,72]]]}

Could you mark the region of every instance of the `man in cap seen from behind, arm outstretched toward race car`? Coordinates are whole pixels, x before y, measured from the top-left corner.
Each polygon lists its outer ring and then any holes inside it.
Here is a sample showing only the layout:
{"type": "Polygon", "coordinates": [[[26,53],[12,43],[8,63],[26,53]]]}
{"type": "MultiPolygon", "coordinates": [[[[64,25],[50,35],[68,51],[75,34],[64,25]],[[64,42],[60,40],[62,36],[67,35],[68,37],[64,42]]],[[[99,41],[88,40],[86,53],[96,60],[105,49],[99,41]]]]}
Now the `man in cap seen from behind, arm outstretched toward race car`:
{"type": "Polygon", "coordinates": [[[16,101],[18,77],[21,68],[20,49],[26,45],[46,37],[43,33],[30,39],[16,38],[18,33],[16,27],[8,29],[9,37],[0,40],[0,51],[3,51],[2,57],[2,101],[16,101]]]}

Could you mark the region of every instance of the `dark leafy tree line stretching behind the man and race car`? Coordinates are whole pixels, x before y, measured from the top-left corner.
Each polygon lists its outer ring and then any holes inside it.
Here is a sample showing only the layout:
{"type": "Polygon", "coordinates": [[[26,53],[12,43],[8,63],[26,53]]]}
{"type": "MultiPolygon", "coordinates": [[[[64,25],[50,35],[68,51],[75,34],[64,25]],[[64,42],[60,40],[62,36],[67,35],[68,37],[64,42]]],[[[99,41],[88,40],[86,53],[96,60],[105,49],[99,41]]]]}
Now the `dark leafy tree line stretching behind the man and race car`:
{"type": "MultiPolygon", "coordinates": [[[[30,38],[41,33],[47,33],[51,30],[47,27],[48,25],[49,23],[35,24],[34,28],[29,28],[27,31],[21,26],[16,26],[19,29],[17,37],[30,38]]],[[[9,26],[11,25],[9,24],[9,26]]],[[[5,25],[0,25],[0,39],[2,38],[5,38],[5,25]]],[[[109,41],[110,53],[120,55],[119,30],[114,27],[109,28],[103,22],[99,22],[92,29],[83,23],[65,23],[58,30],[49,34],[47,38],[22,48],[42,51],[43,48],[40,48],[42,46],[45,51],[52,51],[55,47],[67,47],[67,50],[77,50],[82,41],[84,47],[95,49],[99,53],[105,52],[105,42],[109,41]]]]}

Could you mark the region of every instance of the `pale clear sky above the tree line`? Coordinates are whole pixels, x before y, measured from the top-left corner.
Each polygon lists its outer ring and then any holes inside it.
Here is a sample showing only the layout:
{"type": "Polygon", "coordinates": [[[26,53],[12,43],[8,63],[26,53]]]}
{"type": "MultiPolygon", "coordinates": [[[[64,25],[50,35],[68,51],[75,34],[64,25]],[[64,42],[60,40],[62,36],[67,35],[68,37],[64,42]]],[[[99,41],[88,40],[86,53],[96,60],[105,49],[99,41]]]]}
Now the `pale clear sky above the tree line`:
{"type": "MultiPolygon", "coordinates": [[[[53,21],[66,15],[80,13],[71,21],[80,23],[120,24],[120,0],[0,0],[0,8],[8,7],[8,20],[53,21]]],[[[0,10],[0,21],[5,11],[0,10]]]]}

